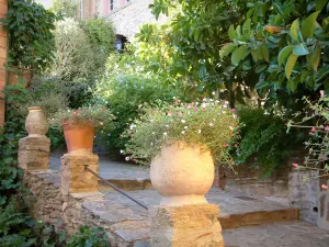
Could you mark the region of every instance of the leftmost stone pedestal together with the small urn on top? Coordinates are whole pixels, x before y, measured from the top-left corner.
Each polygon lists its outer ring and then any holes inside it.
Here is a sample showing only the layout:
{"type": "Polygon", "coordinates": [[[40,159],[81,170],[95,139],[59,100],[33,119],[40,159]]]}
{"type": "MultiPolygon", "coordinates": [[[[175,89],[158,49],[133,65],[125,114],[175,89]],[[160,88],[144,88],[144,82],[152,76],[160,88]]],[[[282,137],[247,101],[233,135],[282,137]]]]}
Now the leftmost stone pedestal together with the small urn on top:
{"type": "Polygon", "coordinates": [[[41,108],[30,108],[25,123],[29,136],[19,143],[19,166],[26,171],[45,171],[49,168],[50,139],[46,117],[41,108]]]}

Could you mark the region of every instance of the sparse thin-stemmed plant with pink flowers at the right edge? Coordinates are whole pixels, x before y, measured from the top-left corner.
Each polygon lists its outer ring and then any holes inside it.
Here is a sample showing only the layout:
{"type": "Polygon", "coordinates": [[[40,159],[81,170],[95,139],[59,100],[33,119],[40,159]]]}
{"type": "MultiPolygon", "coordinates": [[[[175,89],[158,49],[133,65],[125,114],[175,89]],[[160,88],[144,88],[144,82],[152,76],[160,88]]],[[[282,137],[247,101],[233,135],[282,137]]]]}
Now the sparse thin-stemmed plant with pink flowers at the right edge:
{"type": "MultiPolygon", "coordinates": [[[[316,102],[311,102],[308,98],[304,98],[304,101],[311,110],[309,115],[306,115],[300,122],[290,121],[287,123],[290,127],[304,127],[309,130],[309,141],[305,143],[308,148],[308,156],[305,158],[303,165],[294,162],[293,166],[296,169],[315,169],[319,170],[321,178],[329,178],[329,98],[325,94],[325,91],[320,91],[320,99],[316,102]],[[314,121],[315,124],[303,125],[306,122],[314,121]]],[[[329,191],[329,180],[327,184],[322,184],[324,190],[329,191]]]]}

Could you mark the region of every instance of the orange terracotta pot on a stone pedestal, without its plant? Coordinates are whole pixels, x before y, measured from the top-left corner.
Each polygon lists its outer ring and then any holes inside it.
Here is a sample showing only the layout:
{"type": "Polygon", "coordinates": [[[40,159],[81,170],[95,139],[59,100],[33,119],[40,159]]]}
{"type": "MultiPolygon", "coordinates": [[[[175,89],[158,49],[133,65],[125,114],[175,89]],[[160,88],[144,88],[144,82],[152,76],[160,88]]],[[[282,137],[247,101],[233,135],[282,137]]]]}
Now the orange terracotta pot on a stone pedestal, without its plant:
{"type": "Polygon", "coordinates": [[[68,153],[77,150],[92,151],[94,137],[92,123],[68,120],[61,124],[68,153]]]}

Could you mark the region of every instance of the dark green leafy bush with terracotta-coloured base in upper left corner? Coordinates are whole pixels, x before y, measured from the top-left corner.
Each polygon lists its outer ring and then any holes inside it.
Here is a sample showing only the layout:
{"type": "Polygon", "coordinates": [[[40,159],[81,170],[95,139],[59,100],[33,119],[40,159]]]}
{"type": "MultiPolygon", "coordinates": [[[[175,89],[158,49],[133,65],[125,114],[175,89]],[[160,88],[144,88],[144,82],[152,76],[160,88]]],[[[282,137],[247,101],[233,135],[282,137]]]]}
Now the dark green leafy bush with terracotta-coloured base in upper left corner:
{"type": "Polygon", "coordinates": [[[52,63],[56,16],[32,0],[11,0],[8,7],[0,19],[9,34],[8,85],[23,81],[26,87],[33,72],[52,63]]]}

